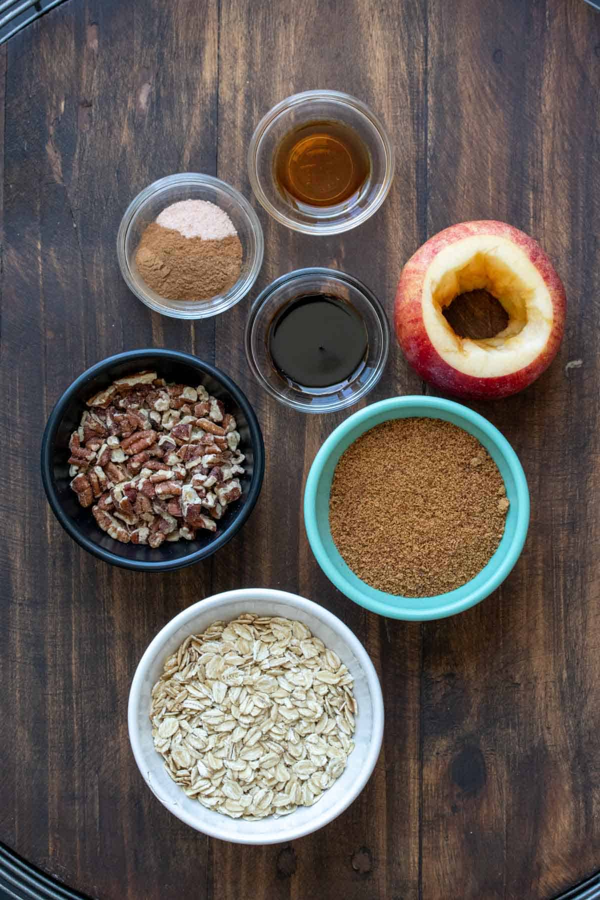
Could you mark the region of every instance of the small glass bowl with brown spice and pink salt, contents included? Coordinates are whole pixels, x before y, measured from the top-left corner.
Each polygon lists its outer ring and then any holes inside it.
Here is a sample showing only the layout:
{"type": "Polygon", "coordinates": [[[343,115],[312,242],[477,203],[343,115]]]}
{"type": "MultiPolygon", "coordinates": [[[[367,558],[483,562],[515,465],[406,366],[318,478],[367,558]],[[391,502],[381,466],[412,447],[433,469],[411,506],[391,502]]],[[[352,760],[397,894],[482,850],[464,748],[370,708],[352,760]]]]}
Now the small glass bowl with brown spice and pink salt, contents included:
{"type": "Polygon", "coordinates": [[[175,319],[206,319],[235,306],[255,283],[263,253],[263,229],[246,198],[193,172],[149,184],[130,202],[117,236],[130,290],[175,319]]]}

